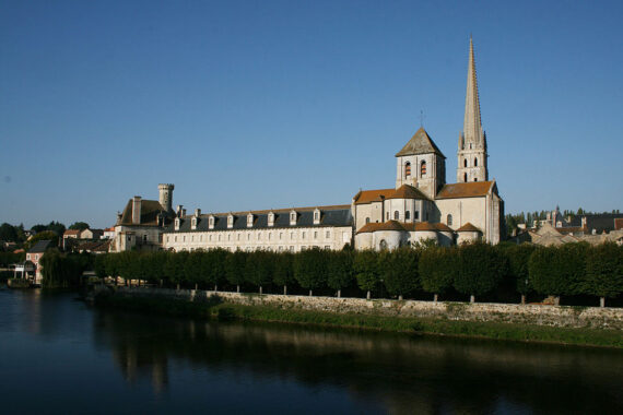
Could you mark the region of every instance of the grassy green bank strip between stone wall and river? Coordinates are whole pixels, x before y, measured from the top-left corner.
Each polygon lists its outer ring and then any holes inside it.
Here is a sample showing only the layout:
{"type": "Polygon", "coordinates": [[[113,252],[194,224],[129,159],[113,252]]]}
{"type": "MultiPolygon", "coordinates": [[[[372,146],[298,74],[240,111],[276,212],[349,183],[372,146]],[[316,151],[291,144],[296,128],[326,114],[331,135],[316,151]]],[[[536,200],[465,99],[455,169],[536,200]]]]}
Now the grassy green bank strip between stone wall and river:
{"type": "Polygon", "coordinates": [[[98,297],[96,305],[105,308],[202,319],[268,321],[410,334],[436,334],[623,348],[622,333],[618,330],[606,329],[569,329],[531,324],[451,321],[432,318],[334,313],[267,306],[242,306],[222,303],[220,299],[189,303],[165,298],[105,296],[98,297]]]}

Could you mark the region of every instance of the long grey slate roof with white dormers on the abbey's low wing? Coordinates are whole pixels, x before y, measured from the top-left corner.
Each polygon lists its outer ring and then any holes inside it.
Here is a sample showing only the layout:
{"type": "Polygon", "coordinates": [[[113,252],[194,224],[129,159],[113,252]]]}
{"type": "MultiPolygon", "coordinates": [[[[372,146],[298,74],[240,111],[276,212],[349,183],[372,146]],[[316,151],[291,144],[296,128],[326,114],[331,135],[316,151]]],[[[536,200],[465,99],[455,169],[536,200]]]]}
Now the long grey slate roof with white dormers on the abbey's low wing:
{"type": "Polygon", "coordinates": [[[214,215],[214,228],[209,229],[209,216],[199,216],[197,228],[191,229],[192,215],[181,218],[179,230],[175,230],[175,223],[167,226],[165,233],[183,232],[219,232],[219,230],[246,230],[246,229],[274,229],[274,228],[296,228],[296,227],[322,227],[322,226],[353,226],[353,216],[350,209],[320,209],[320,224],[314,225],[314,210],[296,211],[296,225],[290,225],[290,211],[274,212],[274,226],[268,226],[268,213],[254,214],[254,226],[247,227],[247,215],[244,213],[234,214],[234,226],[227,227],[227,214],[214,215]]]}

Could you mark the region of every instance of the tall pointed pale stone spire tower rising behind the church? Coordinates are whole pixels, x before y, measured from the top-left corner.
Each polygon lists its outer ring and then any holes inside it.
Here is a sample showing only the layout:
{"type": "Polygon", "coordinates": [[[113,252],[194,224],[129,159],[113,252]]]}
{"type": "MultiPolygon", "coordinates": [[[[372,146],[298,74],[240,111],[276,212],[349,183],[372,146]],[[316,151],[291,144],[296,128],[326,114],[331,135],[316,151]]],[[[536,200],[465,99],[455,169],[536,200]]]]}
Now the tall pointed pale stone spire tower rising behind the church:
{"type": "Polygon", "coordinates": [[[480,100],[478,97],[478,80],[471,36],[469,39],[466,115],[463,130],[459,135],[459,151],[457,156],[457,182],[489,180],[489,171],[486,168],[486,158],[489,157],[486,154],[486,134],[482,129],[480,119],[480,100]]]}

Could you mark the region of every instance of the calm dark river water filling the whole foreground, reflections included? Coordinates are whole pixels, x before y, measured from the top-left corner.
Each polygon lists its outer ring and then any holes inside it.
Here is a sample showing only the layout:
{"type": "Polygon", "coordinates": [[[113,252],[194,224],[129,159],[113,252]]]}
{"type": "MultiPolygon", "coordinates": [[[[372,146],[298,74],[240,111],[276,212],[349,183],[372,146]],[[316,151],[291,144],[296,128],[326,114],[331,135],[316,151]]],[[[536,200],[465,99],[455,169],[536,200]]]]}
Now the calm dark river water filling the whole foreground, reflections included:
{"type": "Polygon", "coordinates": [[[623,352],[99,310],[0,289],[2,414],[623,414],[623,352]]]}

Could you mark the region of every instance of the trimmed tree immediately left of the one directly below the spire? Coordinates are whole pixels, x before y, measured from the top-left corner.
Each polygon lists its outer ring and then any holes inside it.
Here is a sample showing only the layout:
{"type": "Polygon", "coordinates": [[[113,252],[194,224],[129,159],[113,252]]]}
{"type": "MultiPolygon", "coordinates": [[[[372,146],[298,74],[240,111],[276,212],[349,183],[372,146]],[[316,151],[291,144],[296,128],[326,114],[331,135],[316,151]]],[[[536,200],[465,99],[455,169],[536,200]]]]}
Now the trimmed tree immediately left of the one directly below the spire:
{"type": "Polygon", "coordinates": [[[430,248],[422,251],[419,270],[422,287],[431,294],[444,294],[458,274],[457,248],[430,248]]]}

